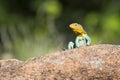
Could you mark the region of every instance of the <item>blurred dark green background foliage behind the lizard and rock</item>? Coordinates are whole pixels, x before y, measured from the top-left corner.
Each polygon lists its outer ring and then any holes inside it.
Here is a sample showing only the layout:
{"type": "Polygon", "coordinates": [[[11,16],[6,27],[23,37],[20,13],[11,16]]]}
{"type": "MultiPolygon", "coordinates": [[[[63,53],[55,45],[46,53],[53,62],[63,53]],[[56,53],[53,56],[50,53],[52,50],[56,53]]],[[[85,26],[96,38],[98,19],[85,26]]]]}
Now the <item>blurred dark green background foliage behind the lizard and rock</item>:
{"type": "Polygon", "coordinates": [[[92,44],[120,44],[120,0],[0,0],[0,59],[66,48],[80,23],[92,44]]]}

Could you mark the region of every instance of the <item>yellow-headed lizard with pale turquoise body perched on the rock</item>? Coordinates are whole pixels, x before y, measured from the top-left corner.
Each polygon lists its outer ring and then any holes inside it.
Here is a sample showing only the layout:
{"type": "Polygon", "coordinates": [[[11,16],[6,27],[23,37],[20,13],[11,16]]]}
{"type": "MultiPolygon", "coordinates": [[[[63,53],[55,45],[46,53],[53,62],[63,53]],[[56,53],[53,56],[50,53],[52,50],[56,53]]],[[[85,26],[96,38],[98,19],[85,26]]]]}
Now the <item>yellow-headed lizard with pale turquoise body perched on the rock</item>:
{"type": "MultiPolygon", "coordinates": [[[[88,46],[91,45],[91,38],[87,35],[86,31],[83,29],[82,25],[78,23],[72,23],[69,27],[75,32],[77,35],[75,39],[75,48],[80,46],[88,46]]],[[[68,44],[70,45],[70,44],[68,44]]]]}

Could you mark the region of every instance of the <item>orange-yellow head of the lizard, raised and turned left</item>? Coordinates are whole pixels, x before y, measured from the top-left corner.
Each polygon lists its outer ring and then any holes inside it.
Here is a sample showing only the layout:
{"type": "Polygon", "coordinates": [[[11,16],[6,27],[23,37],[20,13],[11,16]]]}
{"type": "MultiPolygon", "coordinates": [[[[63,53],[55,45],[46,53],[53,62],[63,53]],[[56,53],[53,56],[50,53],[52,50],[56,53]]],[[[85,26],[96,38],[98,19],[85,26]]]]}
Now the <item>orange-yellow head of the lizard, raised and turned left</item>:
{"type": "Polygon", "coordinates": [[[72,23],[69,25],[69,27],[77,34],[77,35],[84,35],[86,34],[83,27],[78,23],[72,23]]]}

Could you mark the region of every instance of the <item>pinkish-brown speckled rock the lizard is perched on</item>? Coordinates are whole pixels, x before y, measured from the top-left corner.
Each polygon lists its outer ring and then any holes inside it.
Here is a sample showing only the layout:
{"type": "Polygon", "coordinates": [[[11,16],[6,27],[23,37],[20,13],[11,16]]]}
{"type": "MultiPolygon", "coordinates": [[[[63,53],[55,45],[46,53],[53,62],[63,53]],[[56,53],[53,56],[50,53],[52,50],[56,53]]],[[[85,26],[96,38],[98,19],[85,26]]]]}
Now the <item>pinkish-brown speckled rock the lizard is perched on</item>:
{"type": "Polygon", "coordinates": [[[0,61],[0,80],[120,80],[120,45],[93,45],[0,61]]]}

